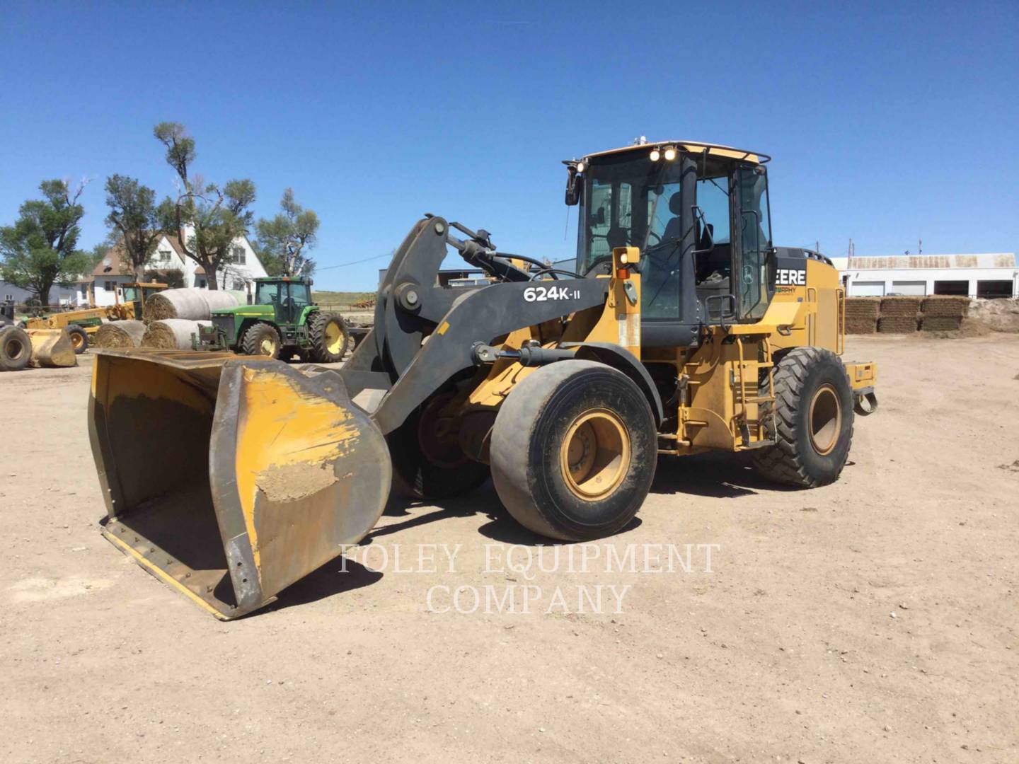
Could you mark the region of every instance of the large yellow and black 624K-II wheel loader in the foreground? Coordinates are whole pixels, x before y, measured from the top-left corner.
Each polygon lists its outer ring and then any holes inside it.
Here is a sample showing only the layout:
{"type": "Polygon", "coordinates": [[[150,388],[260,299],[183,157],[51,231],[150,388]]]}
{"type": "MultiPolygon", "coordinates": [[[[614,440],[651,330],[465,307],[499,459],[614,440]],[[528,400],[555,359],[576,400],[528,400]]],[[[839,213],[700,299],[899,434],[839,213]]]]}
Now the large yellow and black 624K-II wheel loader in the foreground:
{"type": "Polygon", "coordinates": [[[749,451],[769,480],[835,481],[876,369],[840,360],[832,263],[772,245],[767,161],[665,142],[567,162],[566,270],[426,215],[338,370],[101,351],[103,533],[228,619],[357,544],[391,490],[442,499],[490,476],[523,526],[582,541],[631,523],[660,454],[749,451]],[[492,283],[438,286],[449,248],[492,283]]]}

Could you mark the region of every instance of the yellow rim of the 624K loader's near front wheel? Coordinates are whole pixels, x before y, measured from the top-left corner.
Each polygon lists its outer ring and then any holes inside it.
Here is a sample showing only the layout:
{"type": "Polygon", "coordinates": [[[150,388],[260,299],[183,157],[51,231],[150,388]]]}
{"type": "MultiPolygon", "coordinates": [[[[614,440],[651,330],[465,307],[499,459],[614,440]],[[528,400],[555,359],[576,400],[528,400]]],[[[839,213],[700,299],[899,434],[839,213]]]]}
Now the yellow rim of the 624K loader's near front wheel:
{"type": "Polygon", "coordinates": [[[607,408],[574,420],[559,447],[559,467],[567,488],[585,501],[619,488],[630,469],[630,434],[622,420],[607,408]]]}

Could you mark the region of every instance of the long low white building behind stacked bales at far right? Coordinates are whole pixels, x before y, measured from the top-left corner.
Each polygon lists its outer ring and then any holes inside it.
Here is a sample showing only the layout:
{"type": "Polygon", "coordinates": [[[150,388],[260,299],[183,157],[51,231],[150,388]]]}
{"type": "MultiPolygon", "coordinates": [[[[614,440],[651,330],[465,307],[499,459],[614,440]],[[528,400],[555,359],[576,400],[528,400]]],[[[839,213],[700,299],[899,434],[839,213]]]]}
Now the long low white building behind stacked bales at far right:
{"type": "Polygon", "coordinates": [[[832,258],[851,297],[965,294],[1019,297],[1015,253],[832,258]]]}

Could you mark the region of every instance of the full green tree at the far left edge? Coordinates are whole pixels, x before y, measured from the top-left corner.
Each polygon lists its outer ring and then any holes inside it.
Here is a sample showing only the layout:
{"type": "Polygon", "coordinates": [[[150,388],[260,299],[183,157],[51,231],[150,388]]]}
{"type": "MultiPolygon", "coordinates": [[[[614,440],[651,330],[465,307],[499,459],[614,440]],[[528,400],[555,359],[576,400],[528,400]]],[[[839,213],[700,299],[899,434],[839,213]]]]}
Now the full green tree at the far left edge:
{"type": "Polygon", "coordinates": [[[29,200],[13,225],[0,227],[0,278],[31,289],[44,306],[53,284],[68,285],[92,269],[89,255],[77,249],[84,188],[85,181],[71,193],[66,180],[44,180],[43,199],[29,200]]]}

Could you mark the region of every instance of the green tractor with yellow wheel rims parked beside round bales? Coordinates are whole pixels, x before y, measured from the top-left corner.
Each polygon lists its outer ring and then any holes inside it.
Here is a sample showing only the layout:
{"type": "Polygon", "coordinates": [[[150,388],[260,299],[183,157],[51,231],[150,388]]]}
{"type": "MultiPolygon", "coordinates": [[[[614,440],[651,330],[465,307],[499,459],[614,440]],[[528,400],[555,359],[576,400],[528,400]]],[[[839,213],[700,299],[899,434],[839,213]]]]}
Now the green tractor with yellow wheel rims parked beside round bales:
{"type": "Polygon", "coordinates": [[[255,279],[253,305],[213,311],[212,326],[196,337],[203,348],[319,364],[342,360],[350,339],[338,314],[312,303],[312,280],[286,276],[255,279]]]}

